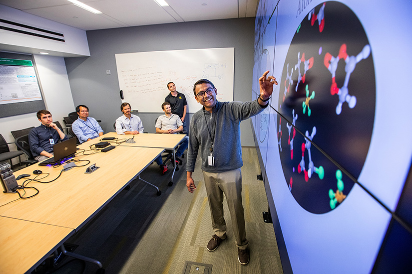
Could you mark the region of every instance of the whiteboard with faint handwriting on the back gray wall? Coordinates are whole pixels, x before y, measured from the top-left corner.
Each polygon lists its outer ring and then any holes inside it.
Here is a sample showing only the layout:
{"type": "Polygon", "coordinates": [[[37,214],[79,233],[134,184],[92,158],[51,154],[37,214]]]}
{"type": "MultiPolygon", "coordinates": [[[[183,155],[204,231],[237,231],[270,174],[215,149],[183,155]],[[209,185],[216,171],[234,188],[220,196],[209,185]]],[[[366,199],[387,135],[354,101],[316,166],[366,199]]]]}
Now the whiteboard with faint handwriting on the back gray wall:
{"type": "Polygon", "coordinates": [[[218,90],[217,100],[233,101],[235,48],[207,48],[115,54],[122,102],[139,112],[162,112],[170,93],[167,83],[186,97],[187,112],[201,109],[193,94],[193,84],[206,78],[218,90]]]}

